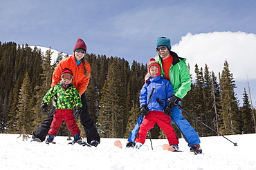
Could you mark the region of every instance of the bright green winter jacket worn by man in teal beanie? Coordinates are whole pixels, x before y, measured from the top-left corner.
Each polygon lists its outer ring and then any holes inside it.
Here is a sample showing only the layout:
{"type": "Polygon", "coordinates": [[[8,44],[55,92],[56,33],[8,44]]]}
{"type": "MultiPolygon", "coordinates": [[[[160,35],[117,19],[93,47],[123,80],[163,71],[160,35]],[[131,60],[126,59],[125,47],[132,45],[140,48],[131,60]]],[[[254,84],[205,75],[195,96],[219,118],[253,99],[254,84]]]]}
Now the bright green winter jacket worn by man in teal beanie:
{"type": "MultiPolygon", "coordinates": [[[[179,57],[175,52],[170,52],[173,56],[172,65],[169,70],[170,82],[174,88],[174,95],[183,98],[191,89],[190,71],[186,65],[186,59],[179,57]]],[[[161,65],[161,74],[165,76],[163,72],[163,66],[160,56],[156,56],[156,61],[161,65]]]]}

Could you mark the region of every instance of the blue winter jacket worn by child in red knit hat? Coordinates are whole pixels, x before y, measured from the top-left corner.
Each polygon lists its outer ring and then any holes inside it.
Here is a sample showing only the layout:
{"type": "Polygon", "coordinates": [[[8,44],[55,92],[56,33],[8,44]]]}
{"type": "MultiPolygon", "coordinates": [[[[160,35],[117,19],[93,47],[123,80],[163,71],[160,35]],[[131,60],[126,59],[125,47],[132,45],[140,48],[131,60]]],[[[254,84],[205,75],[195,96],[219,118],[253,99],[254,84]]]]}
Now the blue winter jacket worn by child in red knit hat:
{"type": "Polygon", "coordinates": [[[168,98],[174,94],[173,87],[167,79],[163,76],[149,77],[147,83],[145,83],[140,90],[140,106],[147,105],[149,111],[163,111],[167,106],[168,98]],[[154,92],[152,93],[152,90],[154,92]],[[150,94],[152,94],[151,99],[150,94]],[[159,101],[162,103],[159,104],[159,101]]]}

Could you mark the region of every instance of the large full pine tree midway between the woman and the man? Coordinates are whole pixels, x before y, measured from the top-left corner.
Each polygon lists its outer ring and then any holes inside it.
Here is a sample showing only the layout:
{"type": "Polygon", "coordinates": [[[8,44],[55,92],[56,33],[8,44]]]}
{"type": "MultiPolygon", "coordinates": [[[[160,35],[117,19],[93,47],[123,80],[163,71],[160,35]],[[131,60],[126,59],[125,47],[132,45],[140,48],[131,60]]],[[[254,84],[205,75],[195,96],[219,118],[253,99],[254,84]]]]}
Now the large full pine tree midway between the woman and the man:
{"type": "Polygon", "coordinates": [[[124,114],[125,109],[123,107],[125,94],[121,81],[122,76],[120,65],[114,61],[109,67],[100,102],[98,123],[102,137],[123,138],[124,136],[125,127],[122,114],[124,114]]]}

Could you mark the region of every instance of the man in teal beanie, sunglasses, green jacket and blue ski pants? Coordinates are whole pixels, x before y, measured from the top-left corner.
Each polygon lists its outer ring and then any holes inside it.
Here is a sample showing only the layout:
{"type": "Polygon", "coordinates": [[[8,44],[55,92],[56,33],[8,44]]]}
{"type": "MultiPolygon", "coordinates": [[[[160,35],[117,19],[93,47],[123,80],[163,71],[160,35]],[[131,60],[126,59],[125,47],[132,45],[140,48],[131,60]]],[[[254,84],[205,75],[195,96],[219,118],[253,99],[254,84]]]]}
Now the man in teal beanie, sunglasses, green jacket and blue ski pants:
{"type": "MultiPolygon", "coordinates": [[[[166,37],[159,37],[156,41],[156,61],[161,65],[161,74],[170,80],[174,88],[174,96],[169,98],[168,108],[171,108],[171,119],[181,129],[185,139],[187,140],[190,151],[202,153],[200,148],[199,135],[192,128],[188,120],[185,120],[181,114],[181,109],[177,107],[181,98],[190,91],[191,78],[188,67],[185,63],[186,59],[179,57],[175,52],[171,51],[171,41],[166,37]]],[[[168,109],[166,109],[168,114],[168,109]]]]}

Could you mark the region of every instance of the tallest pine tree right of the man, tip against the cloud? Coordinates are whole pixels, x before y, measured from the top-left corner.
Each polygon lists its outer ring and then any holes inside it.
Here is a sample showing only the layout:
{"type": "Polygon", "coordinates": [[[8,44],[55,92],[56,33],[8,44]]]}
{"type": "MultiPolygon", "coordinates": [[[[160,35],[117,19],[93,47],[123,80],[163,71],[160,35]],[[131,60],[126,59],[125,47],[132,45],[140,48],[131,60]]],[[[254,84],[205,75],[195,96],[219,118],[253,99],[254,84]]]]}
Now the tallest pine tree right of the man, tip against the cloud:
{"type": "Polygon", "coordinates": [[[219,110],[221,123],[219,131],[224,135],[239,134],[238,101],[234,92],[236,85],[233,74],[230,73],[228,61],[224,62],[219,82],[221,95],[221,109],[219,110]]]}

